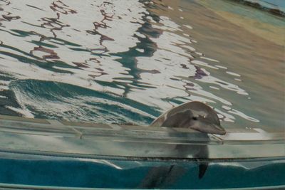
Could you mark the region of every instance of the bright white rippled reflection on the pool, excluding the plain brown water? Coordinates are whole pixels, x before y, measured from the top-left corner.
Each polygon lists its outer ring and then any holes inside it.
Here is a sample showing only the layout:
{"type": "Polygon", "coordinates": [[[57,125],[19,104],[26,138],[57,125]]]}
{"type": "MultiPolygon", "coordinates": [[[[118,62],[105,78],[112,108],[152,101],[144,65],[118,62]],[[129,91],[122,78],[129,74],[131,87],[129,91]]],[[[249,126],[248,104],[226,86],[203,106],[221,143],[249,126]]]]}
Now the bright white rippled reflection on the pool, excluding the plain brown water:
{"type": "Polygon", "coordinates": [[[1,114],[147,125],[172,106],[200,100],[224,126],[259,122],[232,103],[249,97],[238,85],[242,73],[196,50],[191,23],[157,14],[182,9],[126,0],[5,0],[0,8],[1,114]],[[69,86],[58,94],[58,83],[69,86]]]}

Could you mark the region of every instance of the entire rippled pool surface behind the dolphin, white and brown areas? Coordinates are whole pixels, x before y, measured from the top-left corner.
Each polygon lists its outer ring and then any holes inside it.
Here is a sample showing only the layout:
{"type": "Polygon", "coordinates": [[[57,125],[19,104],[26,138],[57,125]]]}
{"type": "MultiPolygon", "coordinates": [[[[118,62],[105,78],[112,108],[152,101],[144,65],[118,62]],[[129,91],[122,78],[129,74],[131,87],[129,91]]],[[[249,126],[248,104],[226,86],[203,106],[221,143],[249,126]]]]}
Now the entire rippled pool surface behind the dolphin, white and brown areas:
{"type": "Polygon", "coordinates": [[[284,127],[281,53],[220,20],[196,1],[1,0],[0,114],[148,125],[199,100],[225,128],[284,127]]]}

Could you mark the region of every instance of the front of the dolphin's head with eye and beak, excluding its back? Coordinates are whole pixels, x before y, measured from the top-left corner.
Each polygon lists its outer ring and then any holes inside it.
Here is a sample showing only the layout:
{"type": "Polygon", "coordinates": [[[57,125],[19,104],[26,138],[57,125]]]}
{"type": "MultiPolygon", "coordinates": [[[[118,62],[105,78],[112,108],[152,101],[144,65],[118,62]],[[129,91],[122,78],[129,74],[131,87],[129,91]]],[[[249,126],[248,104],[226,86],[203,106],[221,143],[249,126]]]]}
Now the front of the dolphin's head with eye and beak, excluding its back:
{"type": "Polygon", "coordinates": [[[185,105],[187,105],[188,119],[180,127],[209,134],[226,134],[217,113],[211,107],[202,102],[189,102],[185,105]]]}

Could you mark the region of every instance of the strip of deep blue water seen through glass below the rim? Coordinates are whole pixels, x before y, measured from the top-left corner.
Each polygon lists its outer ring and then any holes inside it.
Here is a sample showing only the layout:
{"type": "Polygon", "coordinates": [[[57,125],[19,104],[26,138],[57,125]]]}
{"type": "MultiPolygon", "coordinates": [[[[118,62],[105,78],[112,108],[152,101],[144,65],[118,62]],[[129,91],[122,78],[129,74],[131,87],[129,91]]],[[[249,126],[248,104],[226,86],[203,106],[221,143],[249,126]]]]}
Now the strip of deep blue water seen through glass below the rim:
{"type": "MultiPolygon", "coordinates": [[[[0,159],[0,182],[38,186],[72,186],[122,189],[219,189],[284,185],[282,160],[212,162],[202,179],[197,162],[157,162],[100,159],[0,159]],[[146,184],[154,167],[172,173],[146,184]],[[4,174],[4,175],[2,175],[4,174]],[[270,175],[269,175],[270,174],[270,175]],[[54,177],[57,176],[57,177],[54,177]],[[114,177],[115,176],[115,177],[114,177]]],[[[160,178],[158,178],[160,177],[160,178]]],[[[277,189],[277,188],[276,188],[277,189]]]]}

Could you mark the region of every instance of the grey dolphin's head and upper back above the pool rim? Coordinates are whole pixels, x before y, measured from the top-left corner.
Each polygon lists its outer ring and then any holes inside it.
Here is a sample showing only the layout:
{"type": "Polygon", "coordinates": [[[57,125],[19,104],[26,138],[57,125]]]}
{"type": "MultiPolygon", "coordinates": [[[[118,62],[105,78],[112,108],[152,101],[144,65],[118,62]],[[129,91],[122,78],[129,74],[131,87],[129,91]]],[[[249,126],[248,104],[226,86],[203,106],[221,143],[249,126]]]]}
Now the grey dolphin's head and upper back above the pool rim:
{"type": "Polygon", "coordinates": [[[226,134],[217,113],[202,102],[187,102],[157,117],[152,127],[182,127],[209,134],[226,134]]]}

